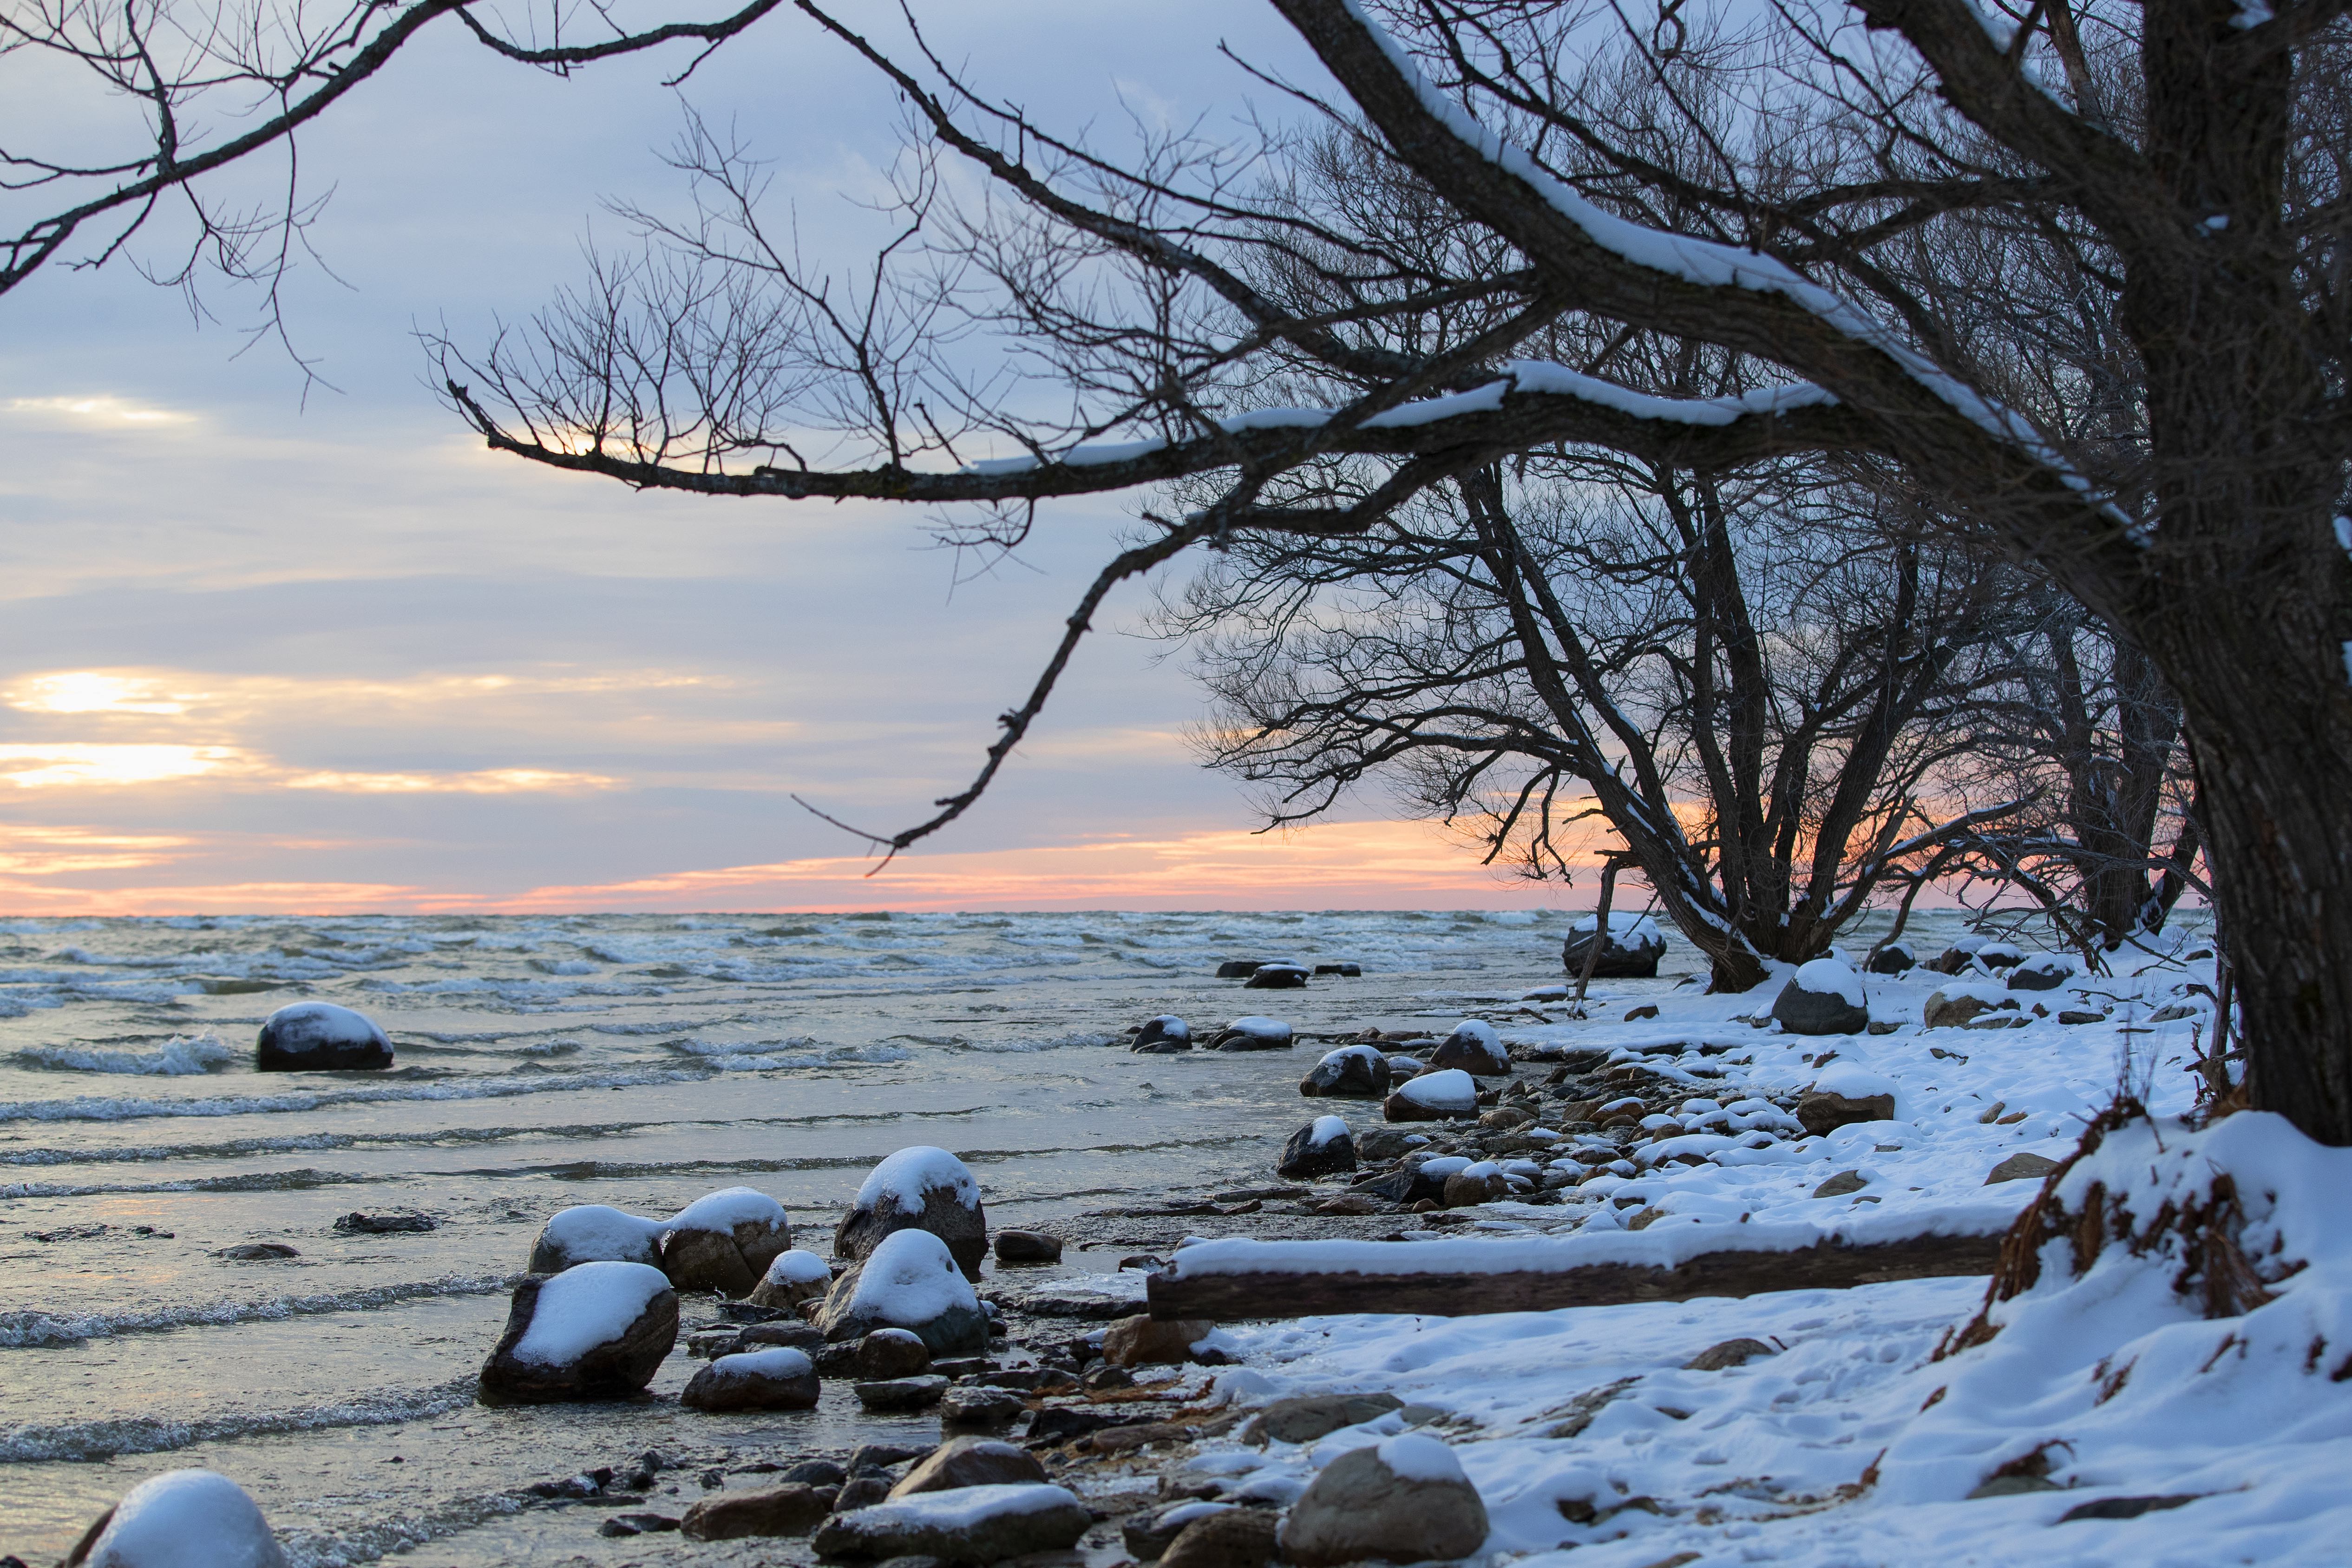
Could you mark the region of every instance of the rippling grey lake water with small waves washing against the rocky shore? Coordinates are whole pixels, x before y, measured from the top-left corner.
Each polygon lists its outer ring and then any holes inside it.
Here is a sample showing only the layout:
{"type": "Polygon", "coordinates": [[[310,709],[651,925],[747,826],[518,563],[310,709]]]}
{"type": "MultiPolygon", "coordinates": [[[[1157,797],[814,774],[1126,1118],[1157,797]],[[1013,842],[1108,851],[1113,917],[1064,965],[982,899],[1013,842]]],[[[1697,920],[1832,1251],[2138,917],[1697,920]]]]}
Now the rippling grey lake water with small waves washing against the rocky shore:
{"type": "MultiPolygon", "coordinates": [[[[936,1422],[875,1422],[842,1385],[807,1415],[475,1406],[546,1215],[663,1215],[741,1182],[828,1251],[863,1173],[915,1143],[971,1164],[993,1225],[1265,1182],[1315,1034],[1465,1011],[1508,1027],[1510,999],[1559,978],[1564,933],[1564,914],[1524,912],[16,922],[0,1552],[54,1561],[139,1479],[209,1465],[303,1563],[661,1556],[675,1535],[604,1542],[593,1509],[510,1493],[644,1448],[706,1465],[929,1441],[936,1422]],[[1364,976],[1244,992],[1211,978],[1223,957],[1364,976]],[[374,1016],[397,1065],[254,1072],[256,1025],[299,997],[374,1016]],[[1308,1039],[1112,1044],[1162,1011],[1270,1013],[1308,1039]],[[395,1206],[440,1227],[334,1232],[395,1206]],[[245,1241],[301,1255],[214,1255],[245,1241]]],[[[1597,990],[1663,992],[1691,969],[1675,945],[1661,980],[1597,990]]],[[[1065,1262],[1089,1269],[1115,1272],[1117,1248],[1065,1262]]],[[[654,1392],[694,1366],[673,1356],[654,1392]]],[[[696,1495],[687,1479],[656,1507],[696,1495]]]]}

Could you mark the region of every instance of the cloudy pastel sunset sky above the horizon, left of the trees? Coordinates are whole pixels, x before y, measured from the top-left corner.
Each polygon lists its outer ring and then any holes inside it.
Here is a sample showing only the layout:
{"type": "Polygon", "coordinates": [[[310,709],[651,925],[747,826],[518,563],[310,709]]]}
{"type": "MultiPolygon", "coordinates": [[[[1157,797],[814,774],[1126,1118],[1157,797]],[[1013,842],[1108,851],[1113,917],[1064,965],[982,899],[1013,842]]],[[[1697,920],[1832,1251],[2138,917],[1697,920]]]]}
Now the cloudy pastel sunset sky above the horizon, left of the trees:
{"type": "MultiPolygon", "coordinates": [[[[920,14],[974,80],[1108,141],[1263,106],[1221,40],[1312,80],[1256,2],[920,14]]],[[[903,510],[640,496],[459,428],[416,331],[482,343],[579,282],[583,237],[619,237],[602,202],[677,212],[682,103],[771,160],[811,244],[858,233],[896,146],[866,68],[790,14],[673,92],[682,61],[555,80],[452,28],[329,113],[301,141],[320,259],[287,287],[327,386],[242,334],[230,287],[191,310],[115,263],[0,296],[0,914],[1590,903],[1378,797],[1254,835],[1188,750],[1200,696],[1138,632],[1148,585],[988,799],[868,877],[790,797],[896,830],[962,788],[1131,501],[1054,503],[969,576],[903,510]]],[[[12,141],[66,153],[122,125],[21,73],[0,101],[12,141]]]]}

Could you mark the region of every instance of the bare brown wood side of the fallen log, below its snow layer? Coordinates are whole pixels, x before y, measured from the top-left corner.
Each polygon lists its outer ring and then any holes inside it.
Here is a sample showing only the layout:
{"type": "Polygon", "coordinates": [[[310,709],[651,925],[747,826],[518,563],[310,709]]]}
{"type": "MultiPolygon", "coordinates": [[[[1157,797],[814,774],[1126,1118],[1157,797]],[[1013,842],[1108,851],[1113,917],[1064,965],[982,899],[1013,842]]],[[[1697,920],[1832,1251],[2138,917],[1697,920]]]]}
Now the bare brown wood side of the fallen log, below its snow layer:
{"type": "Polygon", "coordinates": [[[1999,1253],[1999,1234],[1905,1237],[1865,1244],[1818,1241],[1783,1253],[1700,1253],[1675,1267],[1588,1262],[1517,1274],[1160,1272],[1145,1281],[1145,1291],[1155,1319],[1237,1321],[1331,1312],[1475,1316],[1479,1312],[1679,1302],[1698,1295],[1844,1291],[1889,1279],[1990,1274],[1999,1253]]]}

